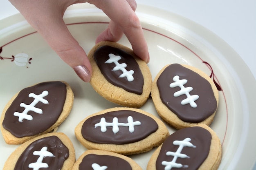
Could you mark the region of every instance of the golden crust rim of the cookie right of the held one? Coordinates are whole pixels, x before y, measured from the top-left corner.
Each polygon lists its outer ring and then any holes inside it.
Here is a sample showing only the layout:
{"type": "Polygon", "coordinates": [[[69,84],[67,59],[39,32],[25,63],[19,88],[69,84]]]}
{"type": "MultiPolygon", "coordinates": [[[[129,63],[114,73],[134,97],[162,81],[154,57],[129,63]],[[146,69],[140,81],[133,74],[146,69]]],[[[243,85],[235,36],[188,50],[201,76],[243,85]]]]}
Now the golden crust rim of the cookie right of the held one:
{"type": "MultiPolygon", "coordinates": [[[[164,66],[164,68],[162,68],[161,71],[159,71],[159,73],[157,74],[157,76],[155,77],[155,79],[153,81],[151,97],[153,99],[153,103],[157,110],[157,113],[159,114],[160,117],[162,117],[162,119],[164,119],[164,121],[166,121],[168,124],[170,124],[171,126],[173,126],[176,129],[191,127],[191,126],[195,126],[197,124],[206,124],[209,126],[211,124],[211,122],[213,121],[213,118],[216,114],[217,109],[211,116],[209,116],[207,119],[204,119],[204,121],[199,122],[199,123],[191,123],[191,122],[182,121],[175,113],[173,113],[171,110],[169,110],[167,108],[167,106],[165,106],[162,103],[162,100],[159,95],[159,89],[157,87],[157,79],[159,78],[161,73],[164,71],[164,69],[166,67],[168,67],[169,65],[164,66]]],[[[198,68],[195,68],[195,67],[189,66],[189,65],[184,65],[184,64],[181,64],[181,65],[186,68],[189,68],[190,70],[194,71],[195,73],[198,73],[199,75],[201,75],[201,77],[206,79],[211,84],[213,94],[217,101],[217,108],[218,108],[219,93],[218,93],[218,89],[216,88],[216,86],[215,86],[214,82],[211,80],[211,78],[206,73],[199,70],[198,68]]]]}

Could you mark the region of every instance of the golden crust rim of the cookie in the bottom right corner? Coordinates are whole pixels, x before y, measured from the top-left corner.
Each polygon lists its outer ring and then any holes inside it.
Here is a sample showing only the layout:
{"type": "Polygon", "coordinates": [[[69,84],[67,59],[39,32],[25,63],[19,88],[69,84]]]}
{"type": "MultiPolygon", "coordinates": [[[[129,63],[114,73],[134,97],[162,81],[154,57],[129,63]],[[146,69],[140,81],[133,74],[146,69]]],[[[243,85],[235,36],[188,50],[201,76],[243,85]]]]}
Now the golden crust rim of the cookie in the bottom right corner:
{"type": "MultiPolygon", "coordinates": [[[[199,124],[196,126],[199,126],[208,130],[211,133],[211,137],[212,137],[209,155],[204,160],[202,165],[198,168],[198,170],[217,170],[218,167],[220,166],[220,161],[222,158],[222,146],[220,143],[220,139],[209,126],[205,124],[199,124]]],[[[159,155],[159,152],[161,150],[161,147],[162,145],[159,146],[157,150],[155,150],[153,155],[150,157],[150,160],[148,161],[147,170],[156,170],[155,164],[156,164],[156,160],[159,155]]],[[[200,157],[200,155],[198,155],[198,157],[200,157]]]]}

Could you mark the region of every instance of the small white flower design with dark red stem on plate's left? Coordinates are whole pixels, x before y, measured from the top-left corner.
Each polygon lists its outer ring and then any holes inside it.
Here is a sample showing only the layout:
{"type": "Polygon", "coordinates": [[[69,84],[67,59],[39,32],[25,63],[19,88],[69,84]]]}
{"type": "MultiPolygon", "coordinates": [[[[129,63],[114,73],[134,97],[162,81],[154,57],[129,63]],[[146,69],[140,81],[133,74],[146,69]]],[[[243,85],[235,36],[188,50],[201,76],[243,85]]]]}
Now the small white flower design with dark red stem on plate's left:
{"type": "MultiPolygon", "coordinates": [[[[2,47],[0,47],[0,53],[2,53],[2,47]]],[[[31,57],[29,58],[29,55],[27,55],[26,53],[18,53],[15,56],[11,55],[11,57],[0,56],[0,60],[4,60],[4,59],[9,59],[11,60],[11,62],[14,61],[14,63],[20,67],[26,66],[27,63],[31,64],[30,61],[32,60],[32,58],[31,57]]]]}

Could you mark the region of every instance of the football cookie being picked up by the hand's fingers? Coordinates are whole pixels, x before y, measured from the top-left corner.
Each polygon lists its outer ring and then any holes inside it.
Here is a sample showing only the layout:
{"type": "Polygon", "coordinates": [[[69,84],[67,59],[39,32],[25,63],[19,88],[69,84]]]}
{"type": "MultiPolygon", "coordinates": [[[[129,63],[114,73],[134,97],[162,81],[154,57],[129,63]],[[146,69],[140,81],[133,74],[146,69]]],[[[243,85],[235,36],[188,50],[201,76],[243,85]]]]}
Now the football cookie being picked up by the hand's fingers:
{"type": "Polygon", "coordinates": [[[147,101],[152,87],[150,70],[126,46],[100,42],[88,53],[92,65],[90,84],[110,102],[139,108],[147,101]]]}

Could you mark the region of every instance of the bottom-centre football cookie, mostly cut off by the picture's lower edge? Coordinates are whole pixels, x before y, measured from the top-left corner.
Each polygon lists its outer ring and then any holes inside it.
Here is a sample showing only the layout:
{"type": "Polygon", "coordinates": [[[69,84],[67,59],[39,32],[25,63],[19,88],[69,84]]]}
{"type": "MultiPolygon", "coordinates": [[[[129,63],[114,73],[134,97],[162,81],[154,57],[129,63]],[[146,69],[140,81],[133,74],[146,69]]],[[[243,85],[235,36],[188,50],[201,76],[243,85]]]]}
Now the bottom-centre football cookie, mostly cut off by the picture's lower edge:
{"type": "Polygon", "coordinates": [[[142,170],[131,158],[103,150],[87,150],[76,161],[72,170],[142,170]]]}

